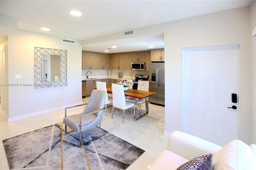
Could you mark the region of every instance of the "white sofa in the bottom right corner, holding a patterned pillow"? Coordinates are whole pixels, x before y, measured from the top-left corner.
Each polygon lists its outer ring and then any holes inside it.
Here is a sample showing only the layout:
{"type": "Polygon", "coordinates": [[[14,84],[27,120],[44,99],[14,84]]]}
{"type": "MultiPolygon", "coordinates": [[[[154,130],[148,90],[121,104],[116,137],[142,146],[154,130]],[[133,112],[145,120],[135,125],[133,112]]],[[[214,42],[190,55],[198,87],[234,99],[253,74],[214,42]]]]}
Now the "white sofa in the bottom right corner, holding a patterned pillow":
{"type": "MultiPolygon", "coordinates": [[[[198,156],[212,154],[212,170],[256,170],[256,145],[232,140],[224,147],[180,131],[170,134],[150,170],[176,170],[198,156]]],[[[182,169],[182,168],[181,168],[182,169]]]]}

